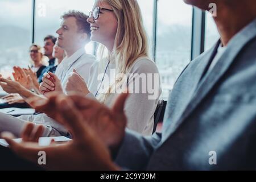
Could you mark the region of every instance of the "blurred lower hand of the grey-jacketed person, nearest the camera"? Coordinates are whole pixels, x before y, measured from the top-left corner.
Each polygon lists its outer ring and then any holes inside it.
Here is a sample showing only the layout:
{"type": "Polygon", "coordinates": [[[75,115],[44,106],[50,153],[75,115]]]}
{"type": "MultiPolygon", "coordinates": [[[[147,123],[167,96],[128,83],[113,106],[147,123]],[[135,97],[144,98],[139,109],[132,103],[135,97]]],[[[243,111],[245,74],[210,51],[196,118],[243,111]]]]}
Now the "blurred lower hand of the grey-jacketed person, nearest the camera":
{"type": "Polygon", "coordinates": [[[98,137],[99,133],[88,125],[89,122],[84,120],[71,98],[61,96],[57,100],[63,105],[57,107],[56,112],[60,113],[61,121],[72,130],[74,140],[60,146],[40,147],[37,143],[16,143],[10,134],[4,134],[2,137],[10,144],[11,149],[34,163],[38,163],[39,151],[46,152],[47,164],[43,167],[47,169],[118,170],[112,162],[108,147],[98,137]]]}

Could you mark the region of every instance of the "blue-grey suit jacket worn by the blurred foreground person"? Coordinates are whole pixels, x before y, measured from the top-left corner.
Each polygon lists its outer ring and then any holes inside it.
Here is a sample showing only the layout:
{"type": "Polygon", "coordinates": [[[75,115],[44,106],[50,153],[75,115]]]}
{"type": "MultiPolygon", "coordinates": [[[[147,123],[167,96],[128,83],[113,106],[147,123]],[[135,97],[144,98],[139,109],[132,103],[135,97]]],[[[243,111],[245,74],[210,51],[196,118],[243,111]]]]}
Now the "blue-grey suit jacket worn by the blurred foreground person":
{"type": "Polygon", "coordinates": [[[232,40],[214,68],[212,49],[176,81],[162,134],[127,130],[115,162],[126,169],[256,169],[256,19],[232,40]]]}

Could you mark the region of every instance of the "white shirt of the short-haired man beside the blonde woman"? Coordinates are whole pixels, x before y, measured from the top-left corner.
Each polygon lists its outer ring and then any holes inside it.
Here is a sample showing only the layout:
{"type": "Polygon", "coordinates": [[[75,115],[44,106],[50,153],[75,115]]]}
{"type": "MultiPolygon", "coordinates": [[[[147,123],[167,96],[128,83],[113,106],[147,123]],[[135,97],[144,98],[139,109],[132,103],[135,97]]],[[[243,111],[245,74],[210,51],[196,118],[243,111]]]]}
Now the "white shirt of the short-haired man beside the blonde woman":
{"type": "Polygon", "coordinates": [[[92,64],[95,62],[96,57],[88,55],[84,48],[77,50],[70,57],[65,57],[58,65],[55,75],[60,79],[63,89],[67,84],[68,77],[72,74],[73,69],[84,78],[86,84],[89,80],[89,71],[92,64]]]}

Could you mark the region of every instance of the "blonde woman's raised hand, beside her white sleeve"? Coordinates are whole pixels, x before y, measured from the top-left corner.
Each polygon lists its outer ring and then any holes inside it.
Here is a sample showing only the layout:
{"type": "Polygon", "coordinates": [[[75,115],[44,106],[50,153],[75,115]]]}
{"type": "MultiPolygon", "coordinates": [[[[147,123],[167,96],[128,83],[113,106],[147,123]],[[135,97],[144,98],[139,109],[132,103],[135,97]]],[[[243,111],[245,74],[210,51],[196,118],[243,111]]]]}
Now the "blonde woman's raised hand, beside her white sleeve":
{"type": "Polygon", "coordinates": [[[72,75],[68,78],[67,85],[65,87],[65,90],[67,94],[70,94],[72,92],[81,93],[84,96],[90,93],[89,89],[87,88],[87,85],[84,81],[84,78],[82,78],[79,73],[76,72],[76,70],[73,70],[72,75]]]}

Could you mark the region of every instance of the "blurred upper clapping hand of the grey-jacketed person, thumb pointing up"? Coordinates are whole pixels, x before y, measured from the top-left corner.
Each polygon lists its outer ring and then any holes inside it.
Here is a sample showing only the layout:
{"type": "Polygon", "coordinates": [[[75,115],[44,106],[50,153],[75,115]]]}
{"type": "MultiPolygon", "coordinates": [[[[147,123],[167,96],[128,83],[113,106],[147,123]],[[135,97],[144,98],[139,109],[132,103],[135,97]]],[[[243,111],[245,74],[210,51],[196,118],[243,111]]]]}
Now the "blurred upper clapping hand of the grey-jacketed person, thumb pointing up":
{"type": "MultiPolygon", "coordinates": [[[[61,119],[63,113],[56,112],[56,108],[60,110],[60,107],[65,106],[63,100],[72,100],[86,125],[89,125],[97,133],[106,146],[117,148],[125,135],[127,119],[123,108],[127,97],[128,94],[121,94],[112,109],[98,101],[90,100],[77,94],[71,94],[70,96],[55,94],[55,96],[49,97],[49,100],[44,103],[34,103],[34,106],[36,110],[43,111],[65,125],[72,134],[76,134],[79,131],[72,128],[74,119],[63,121],[61,119]]],[[[73,137],[76,137],[76,135],[73,137]]]]}

